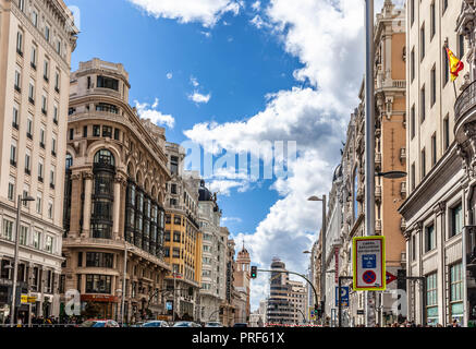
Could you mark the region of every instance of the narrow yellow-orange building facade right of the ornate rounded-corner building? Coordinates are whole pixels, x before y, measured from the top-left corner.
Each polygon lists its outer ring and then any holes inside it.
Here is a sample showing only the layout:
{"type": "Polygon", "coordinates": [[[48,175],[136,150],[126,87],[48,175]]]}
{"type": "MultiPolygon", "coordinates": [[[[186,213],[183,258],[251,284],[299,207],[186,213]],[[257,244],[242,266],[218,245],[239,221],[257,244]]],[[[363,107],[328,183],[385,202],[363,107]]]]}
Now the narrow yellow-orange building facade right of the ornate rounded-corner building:
{"type": "Polygon", "coordinates": [[[198,226],[198,191],[190,179],[183,177],[185,149],[178,144],[167,143],[166,153],[172,176],[166,186],[164,260],[172,266],[172,274],[166,276],[166,288],[169,290],[166,299],[173,306],[176,303],[175,318],[195,320],[203,249],[198,226]]]}

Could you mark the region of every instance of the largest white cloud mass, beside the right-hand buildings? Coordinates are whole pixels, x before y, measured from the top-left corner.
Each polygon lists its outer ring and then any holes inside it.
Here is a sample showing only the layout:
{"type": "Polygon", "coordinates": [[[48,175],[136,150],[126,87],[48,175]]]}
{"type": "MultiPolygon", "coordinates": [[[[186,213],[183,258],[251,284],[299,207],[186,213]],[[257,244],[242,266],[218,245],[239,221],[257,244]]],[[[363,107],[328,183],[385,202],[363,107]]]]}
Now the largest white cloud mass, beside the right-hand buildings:
{"type": "MultiPolygon", "coordinates": [[[[376,1],[376,11],[382,3],[376,1]]],[[[278,178],[270,186],[280,200],[253,233],[235,236],[244,239],[253,264],[259,267],[269,267],[272,257],[279,256],[290,270],[306,273],[308,257],[302,252],[317,239],[321,224],[320,203],[307,197],[330,190],[340,142],[358,104],[365,62],[363,5],[364,1],[355,0],[271,0],[252,23],[271,26],[270,33],[302,63],[294,77],[310,87],[268,94],[266,108],[252,118],[203,122],[184,132],[210,153],[217,147],[253,151],[263,141],[297,142],[300,157],[290,165],[291,176],[278,178]]],[[[253,308],[267,296],[267,280],[261,274],[253,281],[253,308]]]]}

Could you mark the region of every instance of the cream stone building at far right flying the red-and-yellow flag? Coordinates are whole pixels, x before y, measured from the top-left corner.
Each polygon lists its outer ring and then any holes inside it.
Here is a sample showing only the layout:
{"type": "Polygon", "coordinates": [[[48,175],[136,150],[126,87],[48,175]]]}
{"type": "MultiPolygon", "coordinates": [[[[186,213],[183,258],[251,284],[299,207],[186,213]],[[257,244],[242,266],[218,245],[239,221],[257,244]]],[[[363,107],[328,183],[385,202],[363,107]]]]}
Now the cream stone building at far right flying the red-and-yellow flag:
{"type": "Polygon", "coordinates": [[[461,0],[406,7],[410,176],[400,212],[407,275],[423,278],[407,285],[408,317],[416,323],[463,323],[465,312],[476,320],[475,294],[466,296],[465,288],[466,279],[468,293],[474,291],[474,273],[465,278],[462,261],[462,232],[472,232],[475,224],[474,7],[461,0]],[[447,45],[466,65],[454,84],[447,45]]]}

